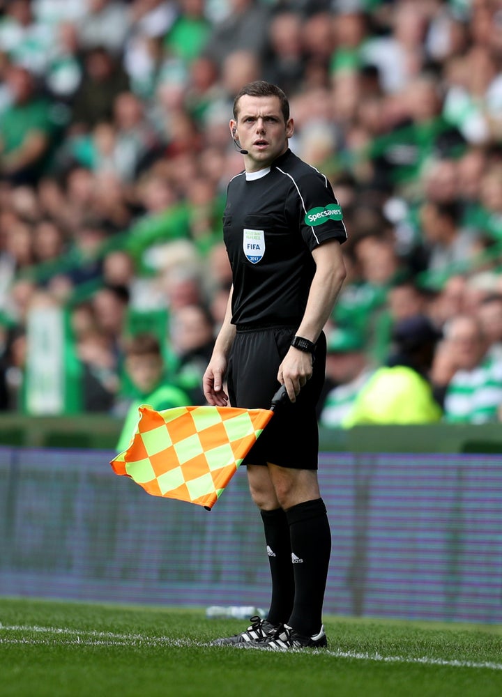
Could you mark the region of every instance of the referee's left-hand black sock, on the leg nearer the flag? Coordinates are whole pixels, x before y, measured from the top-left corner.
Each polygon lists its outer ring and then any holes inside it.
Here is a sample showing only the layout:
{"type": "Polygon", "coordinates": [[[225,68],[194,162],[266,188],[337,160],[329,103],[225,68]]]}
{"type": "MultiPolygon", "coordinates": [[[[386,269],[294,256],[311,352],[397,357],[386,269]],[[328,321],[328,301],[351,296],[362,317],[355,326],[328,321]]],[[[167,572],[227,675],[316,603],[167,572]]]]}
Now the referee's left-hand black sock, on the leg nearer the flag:
{"type": "Polygon", "coordinates": [[[268,562],[272,576],[272,599],[267,619],[273,625],[287,622],[294,599],[289,523],[282,508],[260,511],[264,523],[268,562]]]}

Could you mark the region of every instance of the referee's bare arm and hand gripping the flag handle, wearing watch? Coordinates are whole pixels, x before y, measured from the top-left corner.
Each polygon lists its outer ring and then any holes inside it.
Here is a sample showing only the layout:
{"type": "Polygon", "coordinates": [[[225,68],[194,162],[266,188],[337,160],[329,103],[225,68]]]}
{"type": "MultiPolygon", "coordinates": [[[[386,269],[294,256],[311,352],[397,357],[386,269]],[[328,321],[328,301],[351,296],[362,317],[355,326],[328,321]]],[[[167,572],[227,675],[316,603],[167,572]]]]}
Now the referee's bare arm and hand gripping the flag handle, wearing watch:
{"type": "MultiPolygon", "coordinates": [[[[307,307],[296,334],[315,343],[333,311],[347,271],[338,240],[328,240],[316,247],[312,256],[316,263],[316,272],[310,286],[307,307]]],[[[277,380],[286,386],[291,401],[295,401],[311,376],[310,353],[291,346],[277,372],[277,380]]]]}

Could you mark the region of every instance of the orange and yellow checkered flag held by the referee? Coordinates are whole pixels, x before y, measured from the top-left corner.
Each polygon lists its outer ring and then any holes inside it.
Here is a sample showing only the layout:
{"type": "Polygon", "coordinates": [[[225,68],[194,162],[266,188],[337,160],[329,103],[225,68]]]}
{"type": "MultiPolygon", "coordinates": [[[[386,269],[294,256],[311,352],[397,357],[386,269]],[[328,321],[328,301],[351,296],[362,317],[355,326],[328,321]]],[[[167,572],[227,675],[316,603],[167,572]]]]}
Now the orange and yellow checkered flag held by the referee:
{"type": "Polygon", "coordinates": [[[140,406],[128,449],[110,464],[153,496],[211,510],[272,415],[273,408],[140,406]]]}

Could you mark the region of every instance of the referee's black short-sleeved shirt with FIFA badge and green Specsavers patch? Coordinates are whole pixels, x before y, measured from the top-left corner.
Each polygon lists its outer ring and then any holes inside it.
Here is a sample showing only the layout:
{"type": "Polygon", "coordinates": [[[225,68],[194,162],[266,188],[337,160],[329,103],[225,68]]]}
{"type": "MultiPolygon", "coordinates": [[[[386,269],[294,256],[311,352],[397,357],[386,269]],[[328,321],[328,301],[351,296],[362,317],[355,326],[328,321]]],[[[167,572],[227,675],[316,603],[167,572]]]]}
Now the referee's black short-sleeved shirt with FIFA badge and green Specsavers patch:
{"type": "Polygon", "coordinates": [[[343,243],[342,212],[326,176],[287,150],[270,169],[231,179],[223,215],[232,268],[232,323],[298,326],[326,240],[343,243]]]}

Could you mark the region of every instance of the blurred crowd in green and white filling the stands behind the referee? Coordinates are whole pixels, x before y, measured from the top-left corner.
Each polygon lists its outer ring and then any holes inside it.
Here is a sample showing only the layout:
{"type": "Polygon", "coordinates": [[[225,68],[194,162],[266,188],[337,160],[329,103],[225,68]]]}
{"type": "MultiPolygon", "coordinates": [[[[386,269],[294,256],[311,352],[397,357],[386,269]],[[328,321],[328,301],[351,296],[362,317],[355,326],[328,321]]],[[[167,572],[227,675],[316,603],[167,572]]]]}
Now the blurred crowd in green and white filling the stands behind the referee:
{"type": "Polygon", "coordinates": [[[228,122],[254,79],[289,96],[291,149],[349,231],[321,424],[385,422],[354,404],[397,365],[436,406],[411,422],[498,420],[502,0],[0,0],[0,409],[24,408],[47,306],[81,411],[123,416],[159,381],[204,400],[228,122]],[[146,383],[137,346],[161,358],[146,383]]]}

